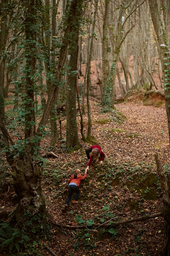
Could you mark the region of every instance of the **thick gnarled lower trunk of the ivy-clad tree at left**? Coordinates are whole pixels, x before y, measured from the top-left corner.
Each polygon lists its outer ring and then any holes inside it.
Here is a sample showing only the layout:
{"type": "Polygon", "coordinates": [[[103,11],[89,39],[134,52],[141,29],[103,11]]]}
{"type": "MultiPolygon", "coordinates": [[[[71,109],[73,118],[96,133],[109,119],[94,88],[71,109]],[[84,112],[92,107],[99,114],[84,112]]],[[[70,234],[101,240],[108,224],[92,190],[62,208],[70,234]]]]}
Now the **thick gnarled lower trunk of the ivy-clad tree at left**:
{"type": "Polygon", "coordinates": [[[28,225],[27,234],[33,230],[36,230],[37,234],[38,229],[40,231],[46,222],[45,201],[41,187],[42,169],[40,164],[32,159],[30,154],[32,146],[27,145],[28,152],[22,157],[18,156],[12,165],[13,186],[19,198],[15,218],[19,230],[28,225]]]}

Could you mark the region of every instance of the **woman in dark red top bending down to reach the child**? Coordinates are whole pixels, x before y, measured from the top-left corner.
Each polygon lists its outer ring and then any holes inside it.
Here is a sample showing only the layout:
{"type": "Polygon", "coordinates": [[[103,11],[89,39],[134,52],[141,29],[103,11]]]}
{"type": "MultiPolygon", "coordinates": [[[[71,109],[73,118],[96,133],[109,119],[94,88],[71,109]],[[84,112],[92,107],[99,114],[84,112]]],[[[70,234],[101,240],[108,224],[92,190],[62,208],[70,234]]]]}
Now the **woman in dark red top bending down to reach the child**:
{"type": "Polygon", "coordinates": [[[87,165],[86,171],[89,170],[89,166],[91,165],[93,157],[95,157],[95,159],[96,159],[95,162],[99,161],[99,158],[100,158],[100,164],[103,163],[103,159],[105,157],[105,154],[99,145],[94,145],[94,146],[91,146],[90,148],[87,148],[86,155],[88,158],[88,165],[87,165]],[[90,156],[90,153],[91,153],[91,156],[90,156]]]}

